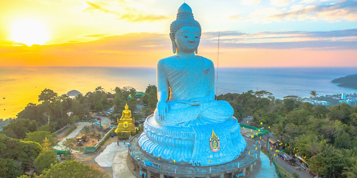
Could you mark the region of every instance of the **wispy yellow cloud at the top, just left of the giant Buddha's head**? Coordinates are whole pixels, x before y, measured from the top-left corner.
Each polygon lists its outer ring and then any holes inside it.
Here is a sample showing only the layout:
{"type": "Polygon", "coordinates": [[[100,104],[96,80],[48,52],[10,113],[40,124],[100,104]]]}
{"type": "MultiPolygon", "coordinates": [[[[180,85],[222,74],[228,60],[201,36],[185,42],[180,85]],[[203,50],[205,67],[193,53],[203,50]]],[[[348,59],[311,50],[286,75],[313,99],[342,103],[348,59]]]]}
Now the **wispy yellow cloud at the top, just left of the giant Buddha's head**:
{"type": "Polygon", "coordinates": [[[117,16],[117,20],[126,20],[129,22],[142,22],[142,21],[160,21],[160,20],[165,20],[169,19],[168,16],[164,15],[156,15],[156,14],[146,14],[143,11],[138,11],[135,8],[132,7],[126,7],[123,12],[118,12],[118,11],[113,11],[109,10],[109,8],[105,8],[103,6],[108,6],[105,3],[102,2],[89,2],[86,1],[89,7],[87,7],[84,12],[91,12],[94,13],[96,11],[101,11],[107,14],[112,14],[117,16]]]}

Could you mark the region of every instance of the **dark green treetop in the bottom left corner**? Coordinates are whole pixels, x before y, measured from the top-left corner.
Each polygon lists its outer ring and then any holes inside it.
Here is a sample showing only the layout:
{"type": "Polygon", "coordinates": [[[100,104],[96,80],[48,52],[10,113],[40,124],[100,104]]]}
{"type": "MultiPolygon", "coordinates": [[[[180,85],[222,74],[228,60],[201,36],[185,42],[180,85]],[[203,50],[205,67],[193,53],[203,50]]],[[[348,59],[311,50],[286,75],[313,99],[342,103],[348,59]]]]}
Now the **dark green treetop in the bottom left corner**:
{"type": "Polygon", "coordinates": [[[17,165],[14,159],[0,158],[0,177],[13,178],[22,174],[21,166],[17,165]]]}

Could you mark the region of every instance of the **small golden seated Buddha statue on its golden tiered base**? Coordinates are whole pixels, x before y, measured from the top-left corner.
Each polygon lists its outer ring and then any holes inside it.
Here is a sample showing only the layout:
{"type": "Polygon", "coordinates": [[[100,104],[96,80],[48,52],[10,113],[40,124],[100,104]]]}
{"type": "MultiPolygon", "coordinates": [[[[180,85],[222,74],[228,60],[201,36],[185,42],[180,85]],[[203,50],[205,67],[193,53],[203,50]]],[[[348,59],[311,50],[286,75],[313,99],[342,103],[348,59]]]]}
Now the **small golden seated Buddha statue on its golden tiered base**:
{"type": "Polygon", "coordinates": [[[135,132],[135,119],[131,118],[131,111],[128,104],[125,104],[125,110],[122,112],[122,116],[117,118],[118,126],[115,129],[116,132],[135,132]]]}

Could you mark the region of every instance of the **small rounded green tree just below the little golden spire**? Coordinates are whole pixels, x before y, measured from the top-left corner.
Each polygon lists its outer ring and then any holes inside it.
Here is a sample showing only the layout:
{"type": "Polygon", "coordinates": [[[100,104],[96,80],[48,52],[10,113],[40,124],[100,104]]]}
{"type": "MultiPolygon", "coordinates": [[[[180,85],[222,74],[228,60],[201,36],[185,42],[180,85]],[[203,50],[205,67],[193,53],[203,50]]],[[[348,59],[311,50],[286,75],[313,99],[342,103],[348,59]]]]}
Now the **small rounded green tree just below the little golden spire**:
{"type": "Polygon", "coordinates": [[[56,164],[56,153],[52,150],[43,151],[34,162],[37,174],[41,174],[44,169],[49,169],[51,164],[56,164]]]}

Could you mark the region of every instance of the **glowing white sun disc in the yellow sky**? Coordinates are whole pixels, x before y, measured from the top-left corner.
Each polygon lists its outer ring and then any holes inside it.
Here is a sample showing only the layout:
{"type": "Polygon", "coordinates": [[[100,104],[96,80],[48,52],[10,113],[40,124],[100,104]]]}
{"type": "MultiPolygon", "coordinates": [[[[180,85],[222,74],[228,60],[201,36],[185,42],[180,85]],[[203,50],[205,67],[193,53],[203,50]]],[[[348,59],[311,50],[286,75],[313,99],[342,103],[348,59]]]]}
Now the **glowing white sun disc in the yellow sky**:
{"type": "Polygon", "coordinates": [[[27,46],[44,45],[49,40],[46,27],[38,21],[22,20],[12,25],[11,39],[27,46]]]}

